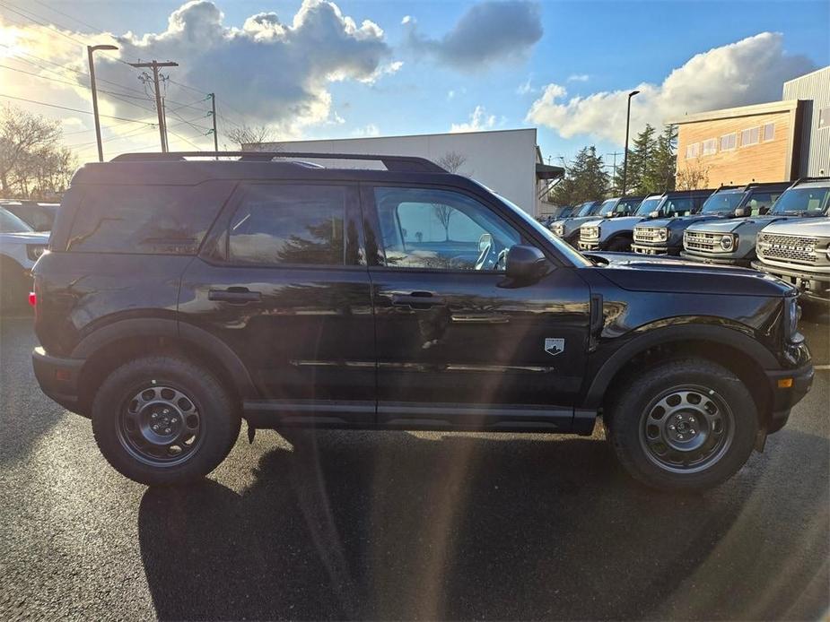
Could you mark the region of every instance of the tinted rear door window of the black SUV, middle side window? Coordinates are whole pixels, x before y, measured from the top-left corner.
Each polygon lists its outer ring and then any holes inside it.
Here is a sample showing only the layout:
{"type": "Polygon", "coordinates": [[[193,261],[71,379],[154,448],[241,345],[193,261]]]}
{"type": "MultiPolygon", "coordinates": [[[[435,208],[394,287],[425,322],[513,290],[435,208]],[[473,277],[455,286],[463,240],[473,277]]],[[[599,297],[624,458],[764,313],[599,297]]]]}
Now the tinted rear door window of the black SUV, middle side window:
{"type": "MultiPolygon", "coordinates": [[[[231,263],[344,265],[342,186],[249,186],[228,231],[231,263]]],[[[350,247],[354,248],[356,239],[350,247]]]]}

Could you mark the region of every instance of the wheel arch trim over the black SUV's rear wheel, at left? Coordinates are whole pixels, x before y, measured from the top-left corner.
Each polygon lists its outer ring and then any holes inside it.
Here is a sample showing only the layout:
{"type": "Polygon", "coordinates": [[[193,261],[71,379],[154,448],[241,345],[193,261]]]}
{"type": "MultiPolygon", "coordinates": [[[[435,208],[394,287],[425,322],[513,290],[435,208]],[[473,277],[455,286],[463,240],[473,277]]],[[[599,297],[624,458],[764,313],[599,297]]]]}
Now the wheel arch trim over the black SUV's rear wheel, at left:
{"type": "Polygon", "coordinates": [[[173,319],[132,318],[101,327],[72,351],[71,358],[85,360],[78,379],[81,410],[89,410],[94,387],[114,367],[153,353],[170,353],[207,367],[240,400],[258,397],[247,367],[213,334],[173,319]]]}

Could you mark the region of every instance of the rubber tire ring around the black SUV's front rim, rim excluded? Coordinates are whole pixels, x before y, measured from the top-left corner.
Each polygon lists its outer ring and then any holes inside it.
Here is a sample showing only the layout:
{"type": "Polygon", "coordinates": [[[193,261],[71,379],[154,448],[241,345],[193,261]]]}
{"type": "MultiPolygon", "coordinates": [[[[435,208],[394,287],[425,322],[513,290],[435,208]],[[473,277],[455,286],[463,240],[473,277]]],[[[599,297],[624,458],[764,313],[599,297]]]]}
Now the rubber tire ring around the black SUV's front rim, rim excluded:
{"type": "Polygon", "coordinates": [[[678,361],[652,368],[630,386],[619,402],[611,430],[617,455],[637,479],[655,488],[701,489],[729,479],[747,462],[755,446],[758,417],[752,395],[729,370],[710,363],[678,361]],[[703,471],[665,471],[651,461],[643,447],[642,415],[660,393],[689,385],[708,387],[726,402],[734,426],[732,442],[721,458],[703,471]]]}

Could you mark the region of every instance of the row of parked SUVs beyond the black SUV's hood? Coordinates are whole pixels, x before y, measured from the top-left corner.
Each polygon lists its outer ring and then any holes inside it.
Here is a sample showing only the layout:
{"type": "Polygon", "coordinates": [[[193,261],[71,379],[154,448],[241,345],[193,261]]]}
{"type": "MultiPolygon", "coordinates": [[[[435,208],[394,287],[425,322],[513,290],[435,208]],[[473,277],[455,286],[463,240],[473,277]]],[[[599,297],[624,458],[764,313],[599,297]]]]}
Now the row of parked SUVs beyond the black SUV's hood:
{"type": "MultiPolygon", "coordinates": [[[[608,199],[603,205],[620,202],[608,199]]],[[[828,301],[828,216],[830,178],[812,177],[654,194],[631,215],[625,208],[619,214],[600,209],[594,219],[557,221],[551,230],[572,242],[579,223],[582,251],[631,250],[754,267],[791,282],[806,299],[828,301]],[[805,220],[816,217],[822,218],[805,220]]]]}

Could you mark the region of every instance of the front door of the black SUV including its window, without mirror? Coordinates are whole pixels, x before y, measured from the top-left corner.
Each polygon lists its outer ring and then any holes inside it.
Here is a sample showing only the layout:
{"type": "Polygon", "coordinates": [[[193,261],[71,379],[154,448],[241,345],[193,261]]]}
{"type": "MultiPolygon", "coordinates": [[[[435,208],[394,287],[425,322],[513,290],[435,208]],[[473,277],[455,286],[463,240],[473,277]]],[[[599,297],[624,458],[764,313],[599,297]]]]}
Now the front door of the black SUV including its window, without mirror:
{"type": "Polygon", "coordinates": [[[552,264],[535,283],[504,287],[507,249],[530,242],[484,196],[364,186],[362,197],[380,423],[569,412],[588,347],[581,277],[552,264]]]}

